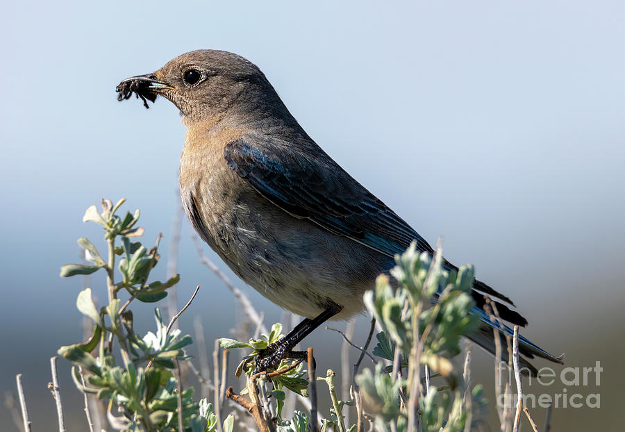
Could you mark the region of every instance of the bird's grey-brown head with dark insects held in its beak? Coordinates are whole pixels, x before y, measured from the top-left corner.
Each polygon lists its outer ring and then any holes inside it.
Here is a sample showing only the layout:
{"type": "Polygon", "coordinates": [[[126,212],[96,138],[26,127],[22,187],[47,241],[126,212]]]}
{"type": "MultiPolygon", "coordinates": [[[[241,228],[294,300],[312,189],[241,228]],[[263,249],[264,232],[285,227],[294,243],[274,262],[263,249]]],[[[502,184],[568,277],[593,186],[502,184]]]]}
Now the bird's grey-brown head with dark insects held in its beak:
{"type": "Polygon", "coordinates": [[[120,101],[135,93],[146,108],[147,100],[163,96],[185,120],[275,108],[279,101],[256,65],[236,54],[210,49],[184,53],[152,74],[126,78],[116,90],[120,101]]]}

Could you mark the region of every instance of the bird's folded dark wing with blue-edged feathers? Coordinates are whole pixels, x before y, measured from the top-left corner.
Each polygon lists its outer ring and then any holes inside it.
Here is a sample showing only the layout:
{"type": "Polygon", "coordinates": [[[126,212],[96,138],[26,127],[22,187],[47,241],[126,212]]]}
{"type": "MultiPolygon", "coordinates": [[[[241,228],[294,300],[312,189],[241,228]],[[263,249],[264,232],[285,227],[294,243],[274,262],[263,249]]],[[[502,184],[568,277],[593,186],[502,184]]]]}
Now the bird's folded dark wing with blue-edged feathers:
{"type": "Polygon", "coordinates": [[[263,197],[296,217],[387,256],[403,253],[413,240],[419,251],[433,252],[401,217],[317,150],[298,151],[279,140],[236,140],[226,145],[224,157],[263,197]]]}

